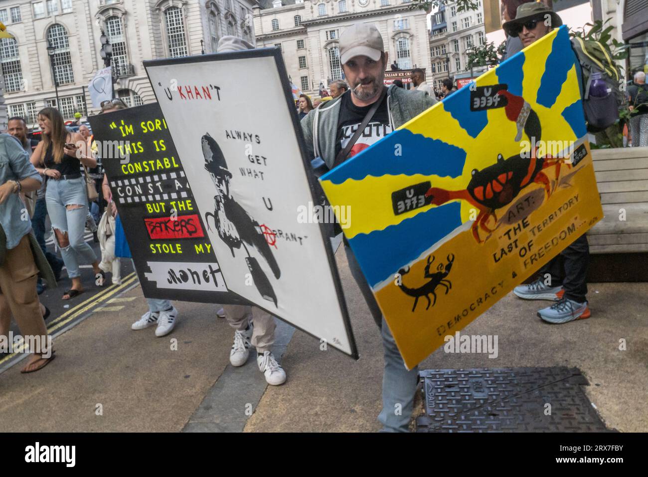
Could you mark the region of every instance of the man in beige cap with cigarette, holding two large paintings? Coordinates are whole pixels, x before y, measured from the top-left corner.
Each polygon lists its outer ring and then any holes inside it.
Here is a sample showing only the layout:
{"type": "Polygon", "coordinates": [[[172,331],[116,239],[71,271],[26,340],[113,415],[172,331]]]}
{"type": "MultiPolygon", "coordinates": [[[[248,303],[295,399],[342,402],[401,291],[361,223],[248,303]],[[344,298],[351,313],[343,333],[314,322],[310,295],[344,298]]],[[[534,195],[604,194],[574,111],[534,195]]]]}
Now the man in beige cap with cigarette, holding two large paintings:
{"type": "MultiPolygon", "coordinates": [[[[314,167],[317,164],[318,169],[341,164],[437,103],[434,96],[423,91],[384,86],[388,52],[373,23],[358,23],[342,32],[340,63],[350,89],[301,120],[308,154],[316,158],[312,164],[314,167]]],[[[418,370],[406,369],[389,326],[346,241],[345,252],[351,274],[382,329],[384,374],[378,421],[385,432],[408,432],[418,370]]]]}

